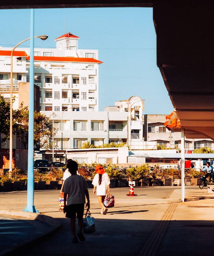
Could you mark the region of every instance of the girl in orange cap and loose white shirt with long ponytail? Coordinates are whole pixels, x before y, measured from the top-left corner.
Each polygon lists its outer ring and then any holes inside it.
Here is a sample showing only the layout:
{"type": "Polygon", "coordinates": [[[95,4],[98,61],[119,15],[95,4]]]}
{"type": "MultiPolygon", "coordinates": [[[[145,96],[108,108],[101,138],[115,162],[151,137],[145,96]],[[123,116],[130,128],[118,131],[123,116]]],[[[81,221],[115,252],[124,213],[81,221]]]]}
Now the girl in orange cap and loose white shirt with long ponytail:
{"type": "Polygon", "coordinates": [[[101,206],[100,214],[106,214],[108,209],[104,206],[103,202],[105,199],[105,196],[107,194],[110,194],[110,179],[107,173],[105,173],[103,166],[97,165],[95,168],[96,174],[94,176],[94,179],[92,181],[92,184],[94,185],[94,195],[95,195],[95,189],[97,188],[97,198],[98,202],[101,206]]]}

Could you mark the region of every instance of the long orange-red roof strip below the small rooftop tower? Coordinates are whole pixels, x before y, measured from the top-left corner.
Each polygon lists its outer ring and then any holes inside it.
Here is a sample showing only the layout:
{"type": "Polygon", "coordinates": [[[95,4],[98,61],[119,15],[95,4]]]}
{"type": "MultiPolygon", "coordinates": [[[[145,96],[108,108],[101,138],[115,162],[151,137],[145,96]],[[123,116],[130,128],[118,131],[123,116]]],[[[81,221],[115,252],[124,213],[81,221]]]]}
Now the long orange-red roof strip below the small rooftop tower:
{"type": "MultiPolygon", "coordinates": [[[[28,56],[26,60],[30,60],[30,56],[28,56]]],[[[34,56],[34,61],[103,63],[102,61],[95,60],[93,58],[53,57],[53,56],[52,57],[34,56]]]]}

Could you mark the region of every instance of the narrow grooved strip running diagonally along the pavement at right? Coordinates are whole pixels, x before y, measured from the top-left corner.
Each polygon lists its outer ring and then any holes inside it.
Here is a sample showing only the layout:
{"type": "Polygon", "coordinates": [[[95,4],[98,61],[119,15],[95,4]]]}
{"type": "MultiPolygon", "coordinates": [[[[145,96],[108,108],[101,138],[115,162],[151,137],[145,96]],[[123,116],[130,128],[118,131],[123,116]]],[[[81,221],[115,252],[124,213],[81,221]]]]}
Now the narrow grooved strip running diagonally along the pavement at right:
{"type": "Polygon", "coordinates": [[[166,209],[162,219],[154,228],[152,234],[146,242],[146,245],[140,251],[138,256],[155,256],[156,251],[161,243],[161,240],[167,230],[168,224],[175,212],[177,203],[172,203],[166,209]]]}

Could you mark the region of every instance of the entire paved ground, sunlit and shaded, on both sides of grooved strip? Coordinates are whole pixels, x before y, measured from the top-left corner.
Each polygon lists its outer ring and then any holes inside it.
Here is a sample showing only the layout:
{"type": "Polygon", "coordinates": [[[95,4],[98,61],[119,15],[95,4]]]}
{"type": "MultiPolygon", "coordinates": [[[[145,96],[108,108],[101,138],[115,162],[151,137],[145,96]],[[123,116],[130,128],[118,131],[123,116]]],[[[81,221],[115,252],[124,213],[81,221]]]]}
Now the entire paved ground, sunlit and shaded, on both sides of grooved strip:
{"type": "MultiPolygon", "coordinates": [[[[166,253],[201,255],[200,237],[212,232],[214,225],[214,197],[207,194],[207,190],[186,187],[188,201],[185,203],[180,203],[181,190],[178,187],[135,188],[135,193],[138,194],[136,197],[127,197],[127,188],[112,189],[111,192],[115,196],[115,207],[109,208],[107,215],[103,216],[99,214],[97,197],[89,190],[96,232],[86,235],[86,241],[78,244],[72,243],[69,220],[58,210],[59,191],[35,192],[35,206],[39,212],[57,218],[62,226],[52,234],[20,249],[19,253],[81,256],[118,256],[130,253],[139,256],[162,256],[166,253]]],[[[0,193],[1,209],[22,210],[25,203],[26,192],[0,193]],[[7,205],[4,204],[5,201],[8,202],[7,205]]],[[[29,229],[31,235],[38,232],[35,225],[28,227],[32,223],[27,223],[26,220],[25,224],[23,220],[16,221],[20,222],[19,232],[21,229],[29,229]]],[[[16,221],[13,221],[13,226],[16,221]]],[[[4,233],[1,237],[4,237],[4,233]]],[[[208,253],[211,251],[212,236],[206,237],[208,244],[205,251],[208,253]]]]}

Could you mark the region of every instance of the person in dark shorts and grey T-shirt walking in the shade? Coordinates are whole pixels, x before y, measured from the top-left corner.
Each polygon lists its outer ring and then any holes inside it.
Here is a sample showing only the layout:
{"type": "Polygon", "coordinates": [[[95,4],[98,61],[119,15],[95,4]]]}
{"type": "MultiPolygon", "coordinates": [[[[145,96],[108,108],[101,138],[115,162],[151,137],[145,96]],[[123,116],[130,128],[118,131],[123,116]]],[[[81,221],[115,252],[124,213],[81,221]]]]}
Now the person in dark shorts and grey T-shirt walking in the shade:
{"type": "Polygon", "coordinates": [[[71,173],[71,176],[68,177],[62,189],[64,193],[64,213],[66,213],[66,217],[70,218],[70,226],[71,232],[73,235],[73,243],[78,243],[77,236],[80,241],[85,241],[85,237],[82,233],[83,229],[83,213],[84,213],[84,204],[88,209],[90,208],[90,200],[88,194],[88,184],[86,180],[77,175],[78,164],[75,161],[69,161],[67,163],[67,168],[71,173]],[[67,199],[68,196],[68,199],[67,199]],[[67,201],[67,205],[66,205],[67,201]],[[75,222],[76,217],[78,219],[78,233],[76,236],[75,222]]]}

